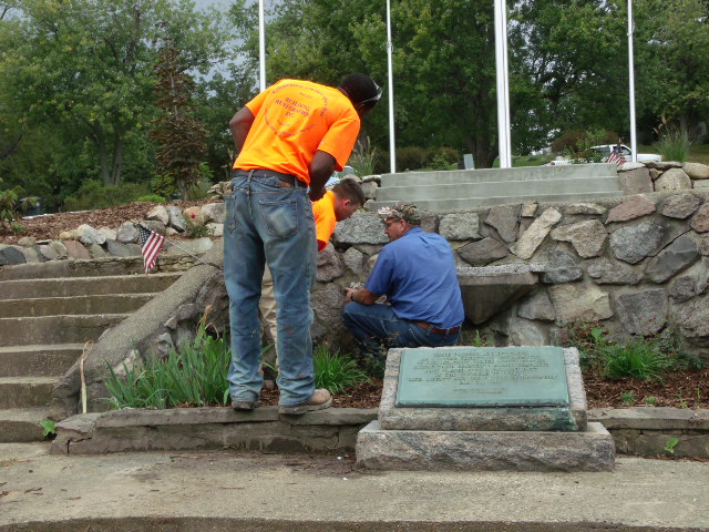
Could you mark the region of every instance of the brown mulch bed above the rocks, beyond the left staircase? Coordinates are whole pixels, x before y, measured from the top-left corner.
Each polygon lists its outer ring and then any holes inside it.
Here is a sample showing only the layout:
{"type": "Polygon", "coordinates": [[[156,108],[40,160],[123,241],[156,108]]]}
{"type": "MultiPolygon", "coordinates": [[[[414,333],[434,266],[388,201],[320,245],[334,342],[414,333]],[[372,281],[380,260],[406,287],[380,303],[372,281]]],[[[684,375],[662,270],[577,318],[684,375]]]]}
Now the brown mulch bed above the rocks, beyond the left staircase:
{"type": "Polygon", "coordinates": [[[33,218],[22,218],[19,221],[19,224],[24,228],[21,233],[13,233],[8,227],[0,225],[0,243],[17,244],[20,238],[25,236],[31,236],[38,241],[58,239],[62,232],[75,229],[82,224],[89,224],[96,229],[104,226],[116,229],[123,222],[145,219],[147,213],[156,205],[176,205],[184,209],[213,202],[213,200],[171,203],[134,202],[97,211],[56,213],[33,218]]]}

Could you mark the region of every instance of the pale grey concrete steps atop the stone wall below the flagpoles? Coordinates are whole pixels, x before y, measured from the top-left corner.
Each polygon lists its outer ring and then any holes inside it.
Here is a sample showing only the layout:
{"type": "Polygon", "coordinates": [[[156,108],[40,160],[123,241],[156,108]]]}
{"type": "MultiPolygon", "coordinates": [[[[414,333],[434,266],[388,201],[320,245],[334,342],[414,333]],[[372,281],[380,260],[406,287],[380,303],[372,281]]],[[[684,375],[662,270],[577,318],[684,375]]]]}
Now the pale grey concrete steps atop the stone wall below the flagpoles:
{"type": "Polygon", "coordinates": [[[483,205],[530,202],[592,201],[623,195],[614,164],[526,166],[504,170],[454,170],[382,174],[376,211],[398,201],[422,211],[445,213],[483,205]]]}

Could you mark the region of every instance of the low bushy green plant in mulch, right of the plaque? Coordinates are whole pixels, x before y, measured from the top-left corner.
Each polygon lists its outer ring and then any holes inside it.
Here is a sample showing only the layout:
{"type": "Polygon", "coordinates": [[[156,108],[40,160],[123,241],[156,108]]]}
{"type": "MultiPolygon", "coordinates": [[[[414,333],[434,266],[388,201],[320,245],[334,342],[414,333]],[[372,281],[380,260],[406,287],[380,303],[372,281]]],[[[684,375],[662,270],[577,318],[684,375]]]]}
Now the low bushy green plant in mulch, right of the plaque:
{"type": "Polygon", "coordinates": [[[609,345],[603,349],[606,377],[659,379],[671,365],[671,359],[654,342],[635,339],[625,346],[609,345]]]}

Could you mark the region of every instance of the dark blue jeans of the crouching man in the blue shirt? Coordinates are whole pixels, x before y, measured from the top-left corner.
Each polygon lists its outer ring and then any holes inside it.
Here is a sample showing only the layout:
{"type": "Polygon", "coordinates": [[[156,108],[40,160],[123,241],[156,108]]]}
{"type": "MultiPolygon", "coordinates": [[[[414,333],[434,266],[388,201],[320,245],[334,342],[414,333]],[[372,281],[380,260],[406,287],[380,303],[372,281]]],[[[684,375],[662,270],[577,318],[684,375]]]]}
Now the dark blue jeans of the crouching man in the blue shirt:
{"type": "Polygon", "coordinates": [[[409,319],[397,317],[389,305],[348,303],[342,320],[363,352],[384,357],[383,348],[441,347],[458,344],[460,330],[452,335],[436,335],[409,319]]]}

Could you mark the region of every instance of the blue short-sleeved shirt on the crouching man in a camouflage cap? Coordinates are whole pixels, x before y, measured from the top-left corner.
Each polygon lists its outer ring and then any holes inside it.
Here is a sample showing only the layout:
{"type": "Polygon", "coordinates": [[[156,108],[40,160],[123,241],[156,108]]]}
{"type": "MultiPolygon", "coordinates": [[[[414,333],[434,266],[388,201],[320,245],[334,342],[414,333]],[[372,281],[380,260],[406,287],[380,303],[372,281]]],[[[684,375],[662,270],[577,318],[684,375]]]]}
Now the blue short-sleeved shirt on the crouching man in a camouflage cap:
{"type": "Polygon", "coordinates": [[[366,287],[386,294],[402,319],[450,328],[465,318],[453,250],[441,235],[421,227],[382,248],[366,287]]]}

